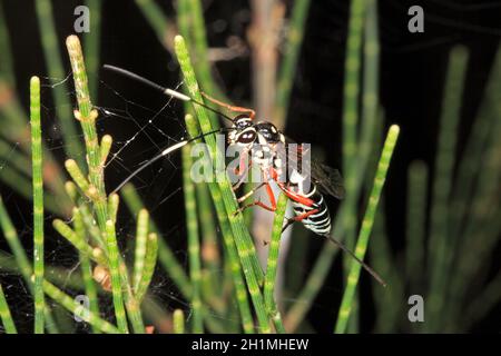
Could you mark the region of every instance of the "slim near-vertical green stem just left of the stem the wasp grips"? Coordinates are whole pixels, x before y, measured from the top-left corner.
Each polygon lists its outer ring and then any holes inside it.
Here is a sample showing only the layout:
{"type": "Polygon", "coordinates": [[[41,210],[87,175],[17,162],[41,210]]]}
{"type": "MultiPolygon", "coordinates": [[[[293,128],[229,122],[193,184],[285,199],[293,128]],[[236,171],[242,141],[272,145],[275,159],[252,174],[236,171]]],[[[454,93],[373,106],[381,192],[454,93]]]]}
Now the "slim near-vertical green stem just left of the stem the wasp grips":
{"type": "MultiPolygon", "coordinates": [[[[186,118],[189,120],[189,118],[186,118]]],[[[193,307],[193,332],[200,334],[204,332],[202,322],[202,298],[200,298],[200,241],[198,238],[197,205],[195,188],[191,181],[191,157],[189,146],[181,149],[183,155],[183,190],[185,194],[186,227],[188,230],[188,255],[189,255],[189,277],[191,279],[191,307],[193,307]]]]}

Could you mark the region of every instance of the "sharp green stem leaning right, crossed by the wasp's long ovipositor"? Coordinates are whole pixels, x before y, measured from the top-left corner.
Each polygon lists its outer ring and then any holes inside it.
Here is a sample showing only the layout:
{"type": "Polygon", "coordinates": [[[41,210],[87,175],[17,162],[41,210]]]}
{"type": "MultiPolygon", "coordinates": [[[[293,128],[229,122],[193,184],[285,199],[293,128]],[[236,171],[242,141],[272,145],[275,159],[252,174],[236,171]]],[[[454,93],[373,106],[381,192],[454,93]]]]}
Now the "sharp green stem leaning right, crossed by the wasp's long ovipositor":
{"type": "MultiPolygon", "coordinates": [[[[361,260],[364,259],[365,251],[367,249],[369,237],[371,236],[374,217],[377,209],[377,204],[381,197],[381,191],[384,186],[384,180],[386,178],[390,160],[396,145],[399,131],[400,128],[396,125],[390,127],[386,140],[384,142],[383,151],[381,154],[380,162],[377,165],[377,171],[371,189],[367,208],[365,210],[364,219],[362,221],[362,228],[360,230],[358,240],[355,247],[355,256],[358,257],[361,260]]],[[[343,294],[343,299],[341,301],[341,308],[340,314],[337,316],[335,333],[341,334],[346,330],[346,325],[352,309],[353,297],[355,295],[356,285],[358,284],[361,268],[362,267],[360,264],[352,261],[350,274],[347,276],[346,289],[343,294]]]]}

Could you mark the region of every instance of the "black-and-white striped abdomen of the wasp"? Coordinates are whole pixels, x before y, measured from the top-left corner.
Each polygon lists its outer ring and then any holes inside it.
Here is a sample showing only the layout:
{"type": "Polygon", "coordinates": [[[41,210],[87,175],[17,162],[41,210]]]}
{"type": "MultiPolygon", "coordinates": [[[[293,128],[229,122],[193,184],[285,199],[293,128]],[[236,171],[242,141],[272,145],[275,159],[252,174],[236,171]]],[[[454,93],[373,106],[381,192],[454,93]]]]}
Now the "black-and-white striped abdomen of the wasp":
{"type": "Polygon", "coordinates": [[[314,209],[317,209],[318,212],[315,212],[307,218],[303,219],[303,225],[318,235],[328,235],[331,233],[331,215],[328,214],[327,205],[325,204],[324,197],[316,191],[316,187],[312,187],[312,191],[310,191],[306,197],[312,199],[314,204],[308,207],[301,202],[292,200],[292,205],[294,208],[294,212],[296,216],[301,216],[314,209]]]}

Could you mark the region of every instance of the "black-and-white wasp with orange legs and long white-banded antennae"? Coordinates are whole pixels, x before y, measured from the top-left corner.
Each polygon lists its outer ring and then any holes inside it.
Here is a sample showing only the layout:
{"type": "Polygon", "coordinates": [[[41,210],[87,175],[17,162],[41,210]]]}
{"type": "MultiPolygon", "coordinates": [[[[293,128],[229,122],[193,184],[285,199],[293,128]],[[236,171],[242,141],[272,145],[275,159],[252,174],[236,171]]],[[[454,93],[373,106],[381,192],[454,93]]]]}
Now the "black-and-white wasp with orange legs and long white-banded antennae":
{"type": "MultiPolygon", "coordinates": [[[[134,178],[137,174],[149,167],[155,161],[167,157],[181,147],[207,135],[227,134],[228,145],[238,146],[240,148],[239,164],[235,169],[236,175],[239,177],[244,177],[244,175],[247,174],[250,165],[253,164],[259,168],[259,171],[262,174],[261,184],[238,198],[238,204],[242,204],[244,200],[252,197],[261,188],[266,189],[266,194],[269,198],[269,204],[267,205],[261,200],[256,200],[242,206],[237,211],[235,211],[235,214],[242,212],[243,210],[253,206],[258,206],[266,210],[275,211],[276,199],[271,186],[271,182],[274,182],[291,199],[295,214],[295,216],[293,218],[289,218],[284,225],[283,231],[293,222],[302,222],[307,229],[327,238],[330,241],[337,245],[343,251],[348,254],[358,264],[361,264],[362,267],[367,270],[381,285],[386,285],[384,280],[371,267],[369,267],[364,261],[357,258],[350,249],[344,246],[344,244],[331,236],[331,215],[324,196],[330,195],[337,199],[343,199],[345,190],[343,187],[343,179],[338,170],[318,164],[312,159],[308,159],[308,165],[306,165],[307,169],[298,169],[298,166],[304,168],[304,166],[302,165],[303,158],[305,156],[303,147],[301,145],[297,146],[292,140],[287,139],[285,135],[282,134],[272,122],[256,121],[256,112],[253,109],[232,106],[229,103],[214,99],[205,92],[202,92],[203,97],[212,103],[226,110],[237,112],[237,115],[232,118],[225,115],[223,111],[214,109],[213,107],[206,105],[205,102],[200,102],[187,95],[163,87],[126,69],[109,65],[105,65],[104,68],[135,79],[144,85],[161,91],[166,96],[202,106],[232,122],[229,127],[224,127],[209,132],[205,132],[197,137],[185,139],[167,147],[160,154],[132,171],[117,188],[115,188],[114,191],[119,190],[131,178],[134,178]],[[295,155],[288,155],[291,147],[293,147],[295,155]],[[246,158],[250,152],[252,158],[247,164],[246,158]],[[295,157],[295,165],[293,165],[294,168],[292,170],[286,169],[287,167],[289,167],[292,159],[291,157],[295,157]]],[[[234,190],[237,189],[243,181],[243,179],[239,179],[234,185],[234,190]]]]}

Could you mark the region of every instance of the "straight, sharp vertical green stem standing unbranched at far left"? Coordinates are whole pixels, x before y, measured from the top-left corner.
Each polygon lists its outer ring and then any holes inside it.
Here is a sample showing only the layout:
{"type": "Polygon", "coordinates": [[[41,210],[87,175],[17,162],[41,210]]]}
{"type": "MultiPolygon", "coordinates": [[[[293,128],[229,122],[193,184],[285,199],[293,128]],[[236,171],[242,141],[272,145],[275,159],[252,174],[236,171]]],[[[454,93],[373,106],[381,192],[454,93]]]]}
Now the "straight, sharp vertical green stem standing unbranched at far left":
{"type": "Polygon", "coordinates": [[[31,162],[33,179],[35,334],[43,334],[43,180],[40,128],[40,79],[30,81],[31,162]]]}

